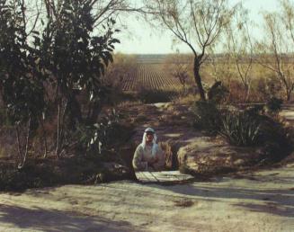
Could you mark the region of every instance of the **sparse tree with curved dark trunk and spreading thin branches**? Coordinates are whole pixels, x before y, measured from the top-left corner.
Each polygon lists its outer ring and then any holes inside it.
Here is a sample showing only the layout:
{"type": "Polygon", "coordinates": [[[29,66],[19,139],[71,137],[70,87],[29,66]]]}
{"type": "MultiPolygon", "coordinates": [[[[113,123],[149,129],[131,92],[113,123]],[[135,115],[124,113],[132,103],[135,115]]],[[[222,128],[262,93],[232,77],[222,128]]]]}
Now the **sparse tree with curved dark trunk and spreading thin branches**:
{"type": "Polygon", "coordinates": [[[147,17],[172,31],[174,36],[192,49],[193,74],[200,93],[205,100],[200,67],[208,58],[207,50],[214,46],[229,22],[235,7],[227,0],[146,0],[147,17]]]}

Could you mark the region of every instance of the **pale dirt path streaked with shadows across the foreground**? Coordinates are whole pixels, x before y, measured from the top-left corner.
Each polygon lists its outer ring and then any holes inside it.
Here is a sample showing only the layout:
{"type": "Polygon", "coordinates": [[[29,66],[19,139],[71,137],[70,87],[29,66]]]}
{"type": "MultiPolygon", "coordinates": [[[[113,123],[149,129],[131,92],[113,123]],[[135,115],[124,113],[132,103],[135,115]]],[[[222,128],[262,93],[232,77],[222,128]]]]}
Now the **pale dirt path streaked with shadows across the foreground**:
{"type": "MultiPolygon", "coordinates": [[[[294,110],[284,116],[294,119],[294,110]]],[[[294,231],[294,164],[177,185],[0,193],[0,231],[294,231]]]]}

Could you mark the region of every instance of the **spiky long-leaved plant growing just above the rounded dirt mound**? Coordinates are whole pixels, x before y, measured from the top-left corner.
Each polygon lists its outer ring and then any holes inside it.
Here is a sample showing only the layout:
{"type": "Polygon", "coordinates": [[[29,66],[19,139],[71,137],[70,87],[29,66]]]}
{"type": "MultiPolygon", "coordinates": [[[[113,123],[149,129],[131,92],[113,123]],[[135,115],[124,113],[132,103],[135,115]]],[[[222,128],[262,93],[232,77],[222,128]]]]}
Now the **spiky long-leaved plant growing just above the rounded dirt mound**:
{"type": "Polygon", "coordinates": [[[259,141],[261,122],[248,112],[227,111],[221,117],[218,133],[232,145],[254,146],[259,141]]]}

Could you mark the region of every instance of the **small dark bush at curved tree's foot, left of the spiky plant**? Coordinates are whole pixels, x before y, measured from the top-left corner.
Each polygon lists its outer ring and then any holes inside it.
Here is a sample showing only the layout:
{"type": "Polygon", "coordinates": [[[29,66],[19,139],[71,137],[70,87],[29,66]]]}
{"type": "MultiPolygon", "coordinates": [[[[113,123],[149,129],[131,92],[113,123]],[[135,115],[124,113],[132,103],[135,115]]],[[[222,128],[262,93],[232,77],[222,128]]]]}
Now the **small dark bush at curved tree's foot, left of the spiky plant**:
{"type": "Polygon", "coordinates": [[[221,113],[214,101],[197,101],[192,106],[195,115],[196,128],[205,129],[211,134],[216,134],[220,129],[221,113]]]}

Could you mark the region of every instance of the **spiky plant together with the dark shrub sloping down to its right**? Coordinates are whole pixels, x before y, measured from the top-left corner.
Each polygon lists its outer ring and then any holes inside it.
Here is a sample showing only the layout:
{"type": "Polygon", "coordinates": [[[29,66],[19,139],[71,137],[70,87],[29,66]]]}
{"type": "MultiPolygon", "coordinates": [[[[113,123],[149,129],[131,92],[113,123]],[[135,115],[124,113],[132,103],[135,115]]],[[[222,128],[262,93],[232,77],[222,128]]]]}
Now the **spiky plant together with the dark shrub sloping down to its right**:
{"type": "Polygon", "coordinates": [[[287,129],[262,114],[262,107],[250,107],[244,112],[227,112],[222,115],[219,134],[235,146],[260,146],[267,160],[278,161],[292,148],[287,129]]]}

